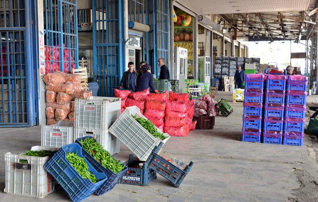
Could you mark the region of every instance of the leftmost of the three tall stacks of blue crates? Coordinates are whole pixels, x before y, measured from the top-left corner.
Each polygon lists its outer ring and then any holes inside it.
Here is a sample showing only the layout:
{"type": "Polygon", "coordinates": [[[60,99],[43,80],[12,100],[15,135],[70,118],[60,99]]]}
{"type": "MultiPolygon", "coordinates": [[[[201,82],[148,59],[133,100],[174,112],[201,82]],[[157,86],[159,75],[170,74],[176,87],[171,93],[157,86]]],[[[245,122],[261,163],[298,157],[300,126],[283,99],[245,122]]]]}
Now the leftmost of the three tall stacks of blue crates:
{"type": "Polygon", "coordinates": [[[242,141],[259,142],[261,140],[264,74],[246,74],[244,91],[244,110],[242,141]]]}

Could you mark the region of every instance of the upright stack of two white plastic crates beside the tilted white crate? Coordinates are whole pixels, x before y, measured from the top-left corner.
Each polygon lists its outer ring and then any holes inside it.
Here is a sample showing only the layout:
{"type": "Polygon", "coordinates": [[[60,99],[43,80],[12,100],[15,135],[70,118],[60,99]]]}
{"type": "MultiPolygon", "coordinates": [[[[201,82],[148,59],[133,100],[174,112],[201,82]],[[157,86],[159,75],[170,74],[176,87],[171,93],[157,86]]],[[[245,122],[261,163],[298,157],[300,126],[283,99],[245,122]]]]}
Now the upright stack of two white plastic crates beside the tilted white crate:
{"type": "Polygon", "coordinates": [[[120,116],[120,98],[94,97],[75,100],[74,140],[92,136],[111,155],[119,152],[119,140],[108,132],[120,116]]]}

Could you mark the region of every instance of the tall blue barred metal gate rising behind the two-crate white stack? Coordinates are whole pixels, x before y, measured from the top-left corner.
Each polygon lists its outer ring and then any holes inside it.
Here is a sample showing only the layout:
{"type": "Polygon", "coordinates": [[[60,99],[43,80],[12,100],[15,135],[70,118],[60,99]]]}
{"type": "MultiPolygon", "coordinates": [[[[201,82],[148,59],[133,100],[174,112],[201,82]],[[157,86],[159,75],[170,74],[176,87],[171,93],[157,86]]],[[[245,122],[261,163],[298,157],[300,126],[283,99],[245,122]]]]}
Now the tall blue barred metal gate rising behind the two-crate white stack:
{"type": "Polygon", "coordinates": [[[114,96],[124,72],[123,0],[92,0],[93,69],[99,96],[114,96]]]}

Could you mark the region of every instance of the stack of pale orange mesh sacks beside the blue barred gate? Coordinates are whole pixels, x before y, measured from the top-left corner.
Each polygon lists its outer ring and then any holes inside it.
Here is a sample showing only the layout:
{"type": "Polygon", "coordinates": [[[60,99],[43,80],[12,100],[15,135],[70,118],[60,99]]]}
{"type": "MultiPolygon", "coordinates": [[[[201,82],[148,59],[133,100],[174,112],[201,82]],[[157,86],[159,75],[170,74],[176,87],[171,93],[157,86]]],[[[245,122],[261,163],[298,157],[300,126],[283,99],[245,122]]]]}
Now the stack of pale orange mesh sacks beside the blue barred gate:
{"type": "Polygon", "coordinates": [[[74,121],[76,98],[87,99],[92,94],[80,86],[78,74],[67,74],[56,71],[43,77],[46,84],[46,124],[56,124],[61,120],[74,121]]]}

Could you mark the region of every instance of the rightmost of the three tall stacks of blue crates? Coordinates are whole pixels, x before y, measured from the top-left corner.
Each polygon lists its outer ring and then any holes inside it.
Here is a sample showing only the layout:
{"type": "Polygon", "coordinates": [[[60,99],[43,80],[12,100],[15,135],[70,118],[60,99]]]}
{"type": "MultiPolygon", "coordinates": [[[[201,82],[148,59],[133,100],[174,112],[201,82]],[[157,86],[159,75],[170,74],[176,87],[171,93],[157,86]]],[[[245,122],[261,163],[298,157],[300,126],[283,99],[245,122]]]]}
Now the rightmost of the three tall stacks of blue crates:
{"type": "Polygon", "coordinates": [[[307,87],[308,78],[306,76],[292,75],[288,77],[284,145],[303,145],[307,87]]]}

